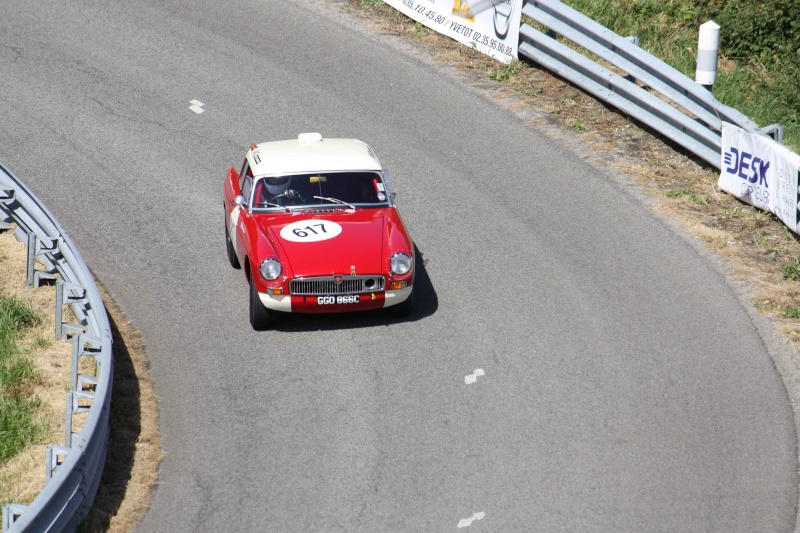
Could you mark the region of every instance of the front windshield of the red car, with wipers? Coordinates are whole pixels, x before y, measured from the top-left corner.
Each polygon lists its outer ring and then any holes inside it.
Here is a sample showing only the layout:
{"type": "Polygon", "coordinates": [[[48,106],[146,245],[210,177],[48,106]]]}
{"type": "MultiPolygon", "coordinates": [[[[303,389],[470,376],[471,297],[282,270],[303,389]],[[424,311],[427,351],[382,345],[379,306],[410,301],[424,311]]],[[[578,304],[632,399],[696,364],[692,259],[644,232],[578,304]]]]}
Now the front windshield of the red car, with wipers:
{"type": "Polygon", "coordinates": [[[388,205],[388,195],[377,172],[323,172],[265,176],[256,179],[253,207],[374,207],[388,205]]]}

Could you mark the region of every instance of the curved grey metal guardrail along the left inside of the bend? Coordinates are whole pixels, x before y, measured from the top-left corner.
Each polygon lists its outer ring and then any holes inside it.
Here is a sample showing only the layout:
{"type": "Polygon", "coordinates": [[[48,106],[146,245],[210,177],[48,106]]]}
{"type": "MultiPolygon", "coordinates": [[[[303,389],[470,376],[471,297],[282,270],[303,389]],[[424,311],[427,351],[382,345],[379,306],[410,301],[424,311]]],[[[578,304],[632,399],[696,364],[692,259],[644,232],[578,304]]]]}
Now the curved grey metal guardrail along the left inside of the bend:
{"type": "Polygon", "coordinates": [[[66,401],[64,446],[48,446],[44,489],[30,505],[3,506],[3,531],[75,531],[91,508],[108,449],[114,358],[111,327],[89,268],[72,240],[42,202],[0,164],[0,230],[16,224],[27,243],[29,287],[56,283],[57,339],[72,342],[72,370],[66,401]],[[35,268],[36,263],[44,270],[35,268]],[[67,306],[78,323],[64,322],[67,306]],[[92,357],[94,375],[80,374],[78,361],[92,357]],[[73,417],[87,413],[80,433],[73,417]]]}

